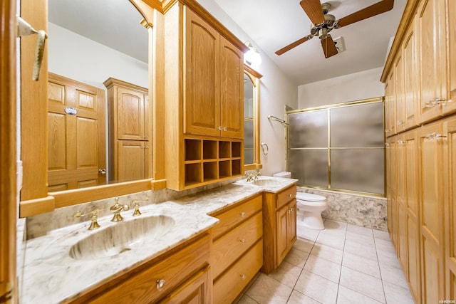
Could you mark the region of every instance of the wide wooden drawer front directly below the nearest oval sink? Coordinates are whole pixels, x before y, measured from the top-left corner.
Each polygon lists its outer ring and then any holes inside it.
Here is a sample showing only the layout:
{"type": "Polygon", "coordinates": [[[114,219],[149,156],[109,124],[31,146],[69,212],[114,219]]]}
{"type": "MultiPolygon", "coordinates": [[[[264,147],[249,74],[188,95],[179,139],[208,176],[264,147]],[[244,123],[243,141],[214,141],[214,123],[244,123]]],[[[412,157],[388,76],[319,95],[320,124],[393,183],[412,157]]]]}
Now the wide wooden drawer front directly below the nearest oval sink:
{"type": "Polygon", "coordinates": [[[185,279],[209,264],[211,240],[209,234],[162,258],[142,271],[134,271],[113,288],[104,291],[90,303],[152,303],[169,294],[185,279]],[[164,280],[161,290],[157,281],[164,280]]]}

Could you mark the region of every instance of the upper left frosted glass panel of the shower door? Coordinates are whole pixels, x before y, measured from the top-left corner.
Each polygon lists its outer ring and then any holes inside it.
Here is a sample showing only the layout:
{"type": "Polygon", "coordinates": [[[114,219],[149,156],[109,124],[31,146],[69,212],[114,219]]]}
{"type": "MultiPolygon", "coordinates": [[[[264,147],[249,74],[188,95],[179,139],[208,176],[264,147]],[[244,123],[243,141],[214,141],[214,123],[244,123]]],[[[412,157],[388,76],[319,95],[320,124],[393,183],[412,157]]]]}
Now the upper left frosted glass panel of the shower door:
{"type": "Polygon", "coordinates": [[[328,147],[328,110],[289,115],[289,147],[328,147]]]}

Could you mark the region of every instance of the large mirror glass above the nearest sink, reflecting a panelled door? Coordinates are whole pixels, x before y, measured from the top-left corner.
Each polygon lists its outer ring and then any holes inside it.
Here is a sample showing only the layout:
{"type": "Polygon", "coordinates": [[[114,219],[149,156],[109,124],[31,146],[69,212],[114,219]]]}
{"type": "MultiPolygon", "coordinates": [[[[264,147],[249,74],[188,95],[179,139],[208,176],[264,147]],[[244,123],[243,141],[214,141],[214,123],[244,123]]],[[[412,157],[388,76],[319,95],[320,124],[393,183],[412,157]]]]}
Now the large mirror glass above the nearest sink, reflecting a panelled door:
{"type": "MultiPolygon", "coordinates": [[[[114,159],[117,142],[107,136],[121,121],[115,110],[130,115],[125,132],[149,129],[136,117],[144,109],[141,114],[148,115],[147,98],[131,90],[123,95],[123,107],[114,108],[120,101],[107,102],[103,85],[116,78],[147,93],[148,32],[142,19],[127,0],[48,0],[48,192],[150,177],[144,168],[150,162],[139,161],[130,162],[131,172],[113,174],[122,163],[114,159]]],[[[121,152],[133,159],[136,150],[150,147],[150,133],[146,144],[125,142],[121,152]]]]}

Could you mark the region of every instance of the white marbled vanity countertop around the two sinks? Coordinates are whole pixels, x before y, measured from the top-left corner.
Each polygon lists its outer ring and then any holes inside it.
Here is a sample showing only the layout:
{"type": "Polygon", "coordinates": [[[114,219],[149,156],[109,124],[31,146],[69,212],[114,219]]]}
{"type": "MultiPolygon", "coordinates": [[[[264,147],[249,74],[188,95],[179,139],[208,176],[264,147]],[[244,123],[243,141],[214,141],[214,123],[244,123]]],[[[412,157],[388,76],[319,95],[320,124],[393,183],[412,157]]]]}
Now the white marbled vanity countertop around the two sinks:
{"type": "Polygon", "coordinates": [[[142,215],[138,217],[133,217],[132,212],[122,212],[124,221],[154,215],[174,219],[175,226],[170,231],[153,239],[152,250],[150,246],[145,246],[110,257],[88,260],[71,258],[69,251],[73,244],[110,226],[119,225],[110,221],[112,216],[99,218],[100,229],[94,231],[88,230],[88,220],[26,241],[22,263],[24,268],[20,278],[20,303],[60,303],[77,298],[81,291],[103,285],[212,228],[219,220],[208,214],[264,191],[279,192],[297,181],[277,177],[259,179],[274,179],[277,182],[274,186],[256,186],[241,180],[180,199],[142,206],[142,215]]]}

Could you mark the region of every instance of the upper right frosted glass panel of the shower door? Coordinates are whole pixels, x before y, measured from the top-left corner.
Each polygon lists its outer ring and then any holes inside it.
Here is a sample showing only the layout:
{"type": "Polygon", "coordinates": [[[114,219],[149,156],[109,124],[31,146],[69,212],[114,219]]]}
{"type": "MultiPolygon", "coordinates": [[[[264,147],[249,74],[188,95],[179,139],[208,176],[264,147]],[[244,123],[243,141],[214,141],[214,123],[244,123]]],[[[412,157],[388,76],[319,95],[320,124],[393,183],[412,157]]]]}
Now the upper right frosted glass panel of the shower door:
{"type": "Polygon", "coordinates": [[[383,147],[383,103],[331,109],[331,147],[383,147]]]}

